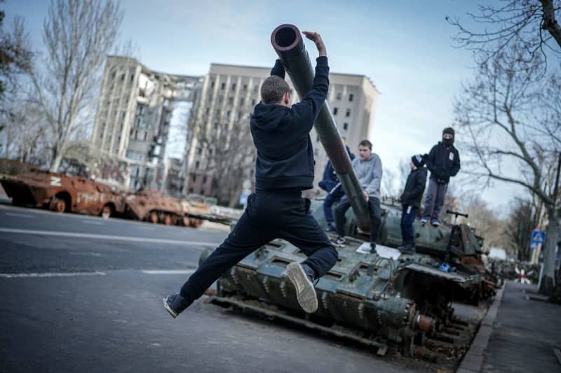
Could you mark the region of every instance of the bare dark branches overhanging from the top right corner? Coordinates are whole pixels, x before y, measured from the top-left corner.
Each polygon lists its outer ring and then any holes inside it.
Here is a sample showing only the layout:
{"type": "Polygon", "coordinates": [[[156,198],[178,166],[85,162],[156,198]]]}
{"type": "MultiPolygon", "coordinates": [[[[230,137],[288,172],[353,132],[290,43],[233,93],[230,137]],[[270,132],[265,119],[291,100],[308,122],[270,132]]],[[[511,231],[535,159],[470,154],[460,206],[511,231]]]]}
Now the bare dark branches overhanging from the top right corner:
{"type": "MultiPolygon", "coordinates": [[[[459,46],[473,50],[476,61],[485,63],[498,54],[520,45],[516,57],[540,62],[545,66],[548,52],[561,54],[561,0],[503,0],[478,6],[478,13],[468,13],[484,29],[470,29],[459,19],[446,17],[458,33],[459,46]],[[542,58],[535,59],[536,55],[542,58]]],[[[474,28],[477,28],[474,26],[474,28]]]]}

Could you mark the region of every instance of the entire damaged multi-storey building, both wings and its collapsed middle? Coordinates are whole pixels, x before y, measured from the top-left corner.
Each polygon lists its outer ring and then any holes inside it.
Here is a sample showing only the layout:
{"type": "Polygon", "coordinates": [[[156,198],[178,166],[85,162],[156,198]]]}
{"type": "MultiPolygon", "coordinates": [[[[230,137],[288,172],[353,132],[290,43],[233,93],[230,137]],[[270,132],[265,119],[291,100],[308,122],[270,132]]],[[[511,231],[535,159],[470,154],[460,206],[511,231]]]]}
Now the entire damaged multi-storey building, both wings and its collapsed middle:
{"type": "MultiPolygon", "coordinates": [[[[254,182],[249,120],[270,71],[210,64],[205,76],[182,76],[152,71],[133,58],[108,56],[91,139],[104,160],[101,178],[131,190],[216,196],[236,204],[244,182],[254,182]],[[183,127],[175,137],[182,136],[184,156],[166,159],[170,123],[180,102],[190,106],[189,115],[175,117],[183,127]]],[[[339,132],[353,150],[370,133],[378,94],[366,76],[330,74],[327,100],[339,132]]],[[[292,100],[297,99],[292,94],[292,100]]],[[[314,130],[311,139],[316,156],[313,194],[327,155],[314,130]]]]}

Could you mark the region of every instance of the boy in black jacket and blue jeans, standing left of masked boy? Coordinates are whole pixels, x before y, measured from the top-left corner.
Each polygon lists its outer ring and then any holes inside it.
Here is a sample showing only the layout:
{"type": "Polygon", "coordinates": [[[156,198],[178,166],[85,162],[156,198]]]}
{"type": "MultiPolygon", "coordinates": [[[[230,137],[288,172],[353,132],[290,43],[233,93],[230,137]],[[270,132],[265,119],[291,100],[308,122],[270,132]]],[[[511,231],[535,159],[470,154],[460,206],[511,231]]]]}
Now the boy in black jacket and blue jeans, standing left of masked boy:
{"type": "Polygon", "coordinates": [[[402,252],[415,251],[415,230],[413,223],[417,217],[417,211],[421,205],[423,192],[426,184],[426,167],[424,167],[423,157],[420,154],[413,155],[411,162],[411,173],[407,176],[407,183],[401,195],[401,205],[403,213],[401,213],[401,237],[403,245],[398,247],[402,252]]]}

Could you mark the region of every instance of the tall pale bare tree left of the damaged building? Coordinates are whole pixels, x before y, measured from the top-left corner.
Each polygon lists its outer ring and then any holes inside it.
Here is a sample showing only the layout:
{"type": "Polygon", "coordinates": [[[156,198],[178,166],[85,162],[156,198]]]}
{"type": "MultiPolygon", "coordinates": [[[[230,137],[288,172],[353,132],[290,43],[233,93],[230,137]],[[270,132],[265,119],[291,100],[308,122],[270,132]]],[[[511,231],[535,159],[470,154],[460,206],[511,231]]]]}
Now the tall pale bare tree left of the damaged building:
{"type": "Polygon", "coordinates": [[[43,25],[46,56],[29,69],[36,104],[52,135],[57,171],[76,131],[93,117],[101,67],[123,20],[115,1],[53,0],[43,25]]]}

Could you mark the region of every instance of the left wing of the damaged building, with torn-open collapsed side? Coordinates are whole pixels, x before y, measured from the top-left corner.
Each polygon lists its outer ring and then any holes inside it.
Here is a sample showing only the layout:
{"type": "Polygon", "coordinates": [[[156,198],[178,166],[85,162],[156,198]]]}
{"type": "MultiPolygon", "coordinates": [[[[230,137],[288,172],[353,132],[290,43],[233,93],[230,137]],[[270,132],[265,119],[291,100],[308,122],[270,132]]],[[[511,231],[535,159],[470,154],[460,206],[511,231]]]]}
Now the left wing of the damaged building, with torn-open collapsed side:
{"type": "MultiPolygon", "coordinates": [[[[164,190],[165,148],[177,102],[192,101],[201,77],[152,71],[136,59],[108,56],[91,143],[101,178],[131,190],[164,190]]],[[[182,175],[177,175],[182,178],[182,175]]]]}

